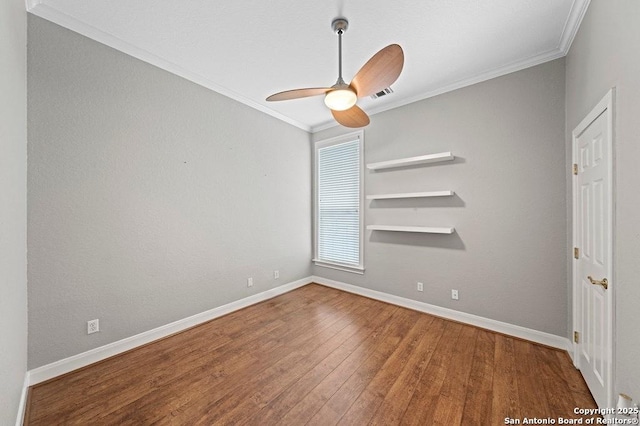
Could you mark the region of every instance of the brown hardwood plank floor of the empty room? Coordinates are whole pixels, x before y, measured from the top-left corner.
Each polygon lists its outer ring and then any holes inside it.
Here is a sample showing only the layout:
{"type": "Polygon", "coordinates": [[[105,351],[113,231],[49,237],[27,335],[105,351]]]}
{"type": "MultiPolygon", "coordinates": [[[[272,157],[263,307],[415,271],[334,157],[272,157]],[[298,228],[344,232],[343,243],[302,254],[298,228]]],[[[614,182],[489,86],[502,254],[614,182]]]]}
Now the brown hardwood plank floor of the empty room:
{"type": "Polygon", "coordinates": [[[563,351],[310,284],[36,385],[25,424],[504,425],[575,407],[596,405],[563,351]]]}

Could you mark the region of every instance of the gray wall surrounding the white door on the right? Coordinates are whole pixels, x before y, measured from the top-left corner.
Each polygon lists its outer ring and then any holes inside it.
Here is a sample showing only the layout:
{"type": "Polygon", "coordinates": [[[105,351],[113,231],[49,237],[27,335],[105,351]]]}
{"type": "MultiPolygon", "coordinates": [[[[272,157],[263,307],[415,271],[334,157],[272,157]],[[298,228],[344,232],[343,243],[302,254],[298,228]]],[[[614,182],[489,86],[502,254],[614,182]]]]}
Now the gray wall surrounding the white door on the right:
{"type": "Polygon", "coordinates": [[[636,401],[640,399],[639,18],[640,2],[636,0],[592,0],[567,56],[566,78],[567,153],[571,150],[571,131],[611,87],[616,87],[613,281],[616,392],[627,393],[636,401]]]}

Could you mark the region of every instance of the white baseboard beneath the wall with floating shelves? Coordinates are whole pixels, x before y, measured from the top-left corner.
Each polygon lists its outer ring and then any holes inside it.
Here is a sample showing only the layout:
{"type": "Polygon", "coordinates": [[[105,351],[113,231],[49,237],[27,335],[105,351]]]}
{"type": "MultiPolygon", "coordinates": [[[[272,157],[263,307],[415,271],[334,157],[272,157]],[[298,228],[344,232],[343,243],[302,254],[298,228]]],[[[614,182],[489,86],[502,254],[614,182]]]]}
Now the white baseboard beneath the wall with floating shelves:
{"type": "Polygon", "coordinates": [[[431,305],[429,303],[418,302],[416,300],[407,299],[392,294],[383,293],[376,290],[370,290],[364,287],[358,287],[346,284],[340,281],[329,280],[322,277],[311,277],[313,282],[332,287],[338,290],[347,291],[349,293],[358,294],[360,296],[369,297],[371,299],[380,300],[382,302],[391,303],[393,305],[402,306],[404,308],[413,309],[419,312],[435,315],[438,317],[462,322],[465,324],[475,325],[477,327],[486,328],[487,330],[496,331],[498,333],[507,334],[509,336],[518,337],[535,343],[551,346],[562,350],[571,347],[571,342],[566,337],[556,336],[555,334],[544,333],[542,331],[532,330],[530,328],[513,325],[502,321],[496,321],[489,318],[480,317],[465,312],[454,311],[453,309],[442,308],[440,306],[431,305]]]}

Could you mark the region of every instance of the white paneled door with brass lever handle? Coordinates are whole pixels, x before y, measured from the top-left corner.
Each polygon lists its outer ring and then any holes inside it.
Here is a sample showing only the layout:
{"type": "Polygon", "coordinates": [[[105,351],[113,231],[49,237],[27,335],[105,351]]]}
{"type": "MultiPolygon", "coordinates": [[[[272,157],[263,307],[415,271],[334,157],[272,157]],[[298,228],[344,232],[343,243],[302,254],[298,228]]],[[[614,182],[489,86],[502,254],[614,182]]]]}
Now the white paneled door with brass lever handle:
{"type": "Polygon", "coordinates": [[[573,132],[574,359],[600,408],[613,407],[611,108],[609,92],[573,132]]]}

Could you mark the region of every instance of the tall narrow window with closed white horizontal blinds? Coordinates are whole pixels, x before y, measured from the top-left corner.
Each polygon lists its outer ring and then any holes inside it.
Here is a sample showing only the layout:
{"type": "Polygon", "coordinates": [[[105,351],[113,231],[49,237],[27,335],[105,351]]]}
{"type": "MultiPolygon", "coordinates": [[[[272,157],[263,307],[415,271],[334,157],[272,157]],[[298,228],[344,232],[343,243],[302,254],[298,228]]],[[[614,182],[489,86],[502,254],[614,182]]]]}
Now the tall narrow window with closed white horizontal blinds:
{"type": "Polygon", "coordinates": [[[364,271],[362,147],[362,131],[316,143],[316,265],[364,271]]]}

